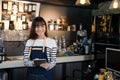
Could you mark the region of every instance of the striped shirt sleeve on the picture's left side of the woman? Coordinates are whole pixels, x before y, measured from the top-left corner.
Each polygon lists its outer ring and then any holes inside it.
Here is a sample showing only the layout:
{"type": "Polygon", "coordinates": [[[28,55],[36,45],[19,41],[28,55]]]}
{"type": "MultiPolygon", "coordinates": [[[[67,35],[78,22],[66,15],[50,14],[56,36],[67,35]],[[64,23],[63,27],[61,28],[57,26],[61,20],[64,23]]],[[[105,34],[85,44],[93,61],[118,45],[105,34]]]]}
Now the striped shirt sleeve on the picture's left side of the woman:
{"type": "Polygon", "coordinates": [[[27,41],[25,49],[24,49],[24,65],[27,67],[32,67],[32,61],[29,58],[30,46],[28,45],[30,41],[27,41]]]}

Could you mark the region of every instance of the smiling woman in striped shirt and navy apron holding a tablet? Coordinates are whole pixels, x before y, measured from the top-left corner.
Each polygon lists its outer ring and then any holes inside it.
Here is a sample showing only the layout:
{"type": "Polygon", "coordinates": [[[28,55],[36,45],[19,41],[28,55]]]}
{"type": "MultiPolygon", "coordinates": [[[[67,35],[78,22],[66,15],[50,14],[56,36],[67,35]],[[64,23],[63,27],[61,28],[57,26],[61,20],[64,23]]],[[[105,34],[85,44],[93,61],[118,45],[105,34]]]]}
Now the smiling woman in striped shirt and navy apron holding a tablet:
{"type": "Polygon", "coordinates": [[[47,37],[47,25],[42,17],[32,22],[30,35],[24,50],[24,64],[28,67],[28,80],[52,80],[52,68],[56,65],[57,44],[47,37]],[[36,60],[40,60],[39,62],[36,60]],[[41,63],[41,60],[42,61],[41,63]],[[36,64],[37,63],[37,64],[36,64]]]}

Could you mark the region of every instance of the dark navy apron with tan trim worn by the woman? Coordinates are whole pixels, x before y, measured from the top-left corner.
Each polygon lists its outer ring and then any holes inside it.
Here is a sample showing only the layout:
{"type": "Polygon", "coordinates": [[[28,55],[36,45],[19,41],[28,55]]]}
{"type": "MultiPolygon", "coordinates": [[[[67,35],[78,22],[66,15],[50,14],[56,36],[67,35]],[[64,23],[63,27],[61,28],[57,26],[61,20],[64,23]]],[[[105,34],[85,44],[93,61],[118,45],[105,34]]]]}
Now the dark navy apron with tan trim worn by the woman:
{"type": "MultiPolygon", "coordinates": [[[[31,46],[31,51],[30,52],[31,52],[30,60],[33,60],[35,58],[39,58],[39,59],[46,59],[46,61],[48,62],[46,47],[44,47],[44,45],[41,46],[41,47],[40,46],[31,46]]],[[[29,73],[28,74],[28,76],[29,76],[28,80],[52,80],[52,71],[51,70],[46,70],[46,69],[44,69],[40,66],[29,67],[28,68],[28,73],[29,73]]]]}

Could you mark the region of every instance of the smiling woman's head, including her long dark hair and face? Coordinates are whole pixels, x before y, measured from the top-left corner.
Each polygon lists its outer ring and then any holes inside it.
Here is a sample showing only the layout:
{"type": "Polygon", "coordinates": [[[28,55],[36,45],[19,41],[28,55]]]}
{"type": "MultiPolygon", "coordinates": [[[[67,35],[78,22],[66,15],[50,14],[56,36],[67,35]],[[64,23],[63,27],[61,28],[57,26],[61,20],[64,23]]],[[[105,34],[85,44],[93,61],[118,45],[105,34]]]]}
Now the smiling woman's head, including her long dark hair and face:
{"type": "Polygon", "coordinates": [[[29,38],[36,39],[39,37],[47,37],[47,24],[45,20],[41,17],[34,19],[31,27],[31,32],[29,38]]]}

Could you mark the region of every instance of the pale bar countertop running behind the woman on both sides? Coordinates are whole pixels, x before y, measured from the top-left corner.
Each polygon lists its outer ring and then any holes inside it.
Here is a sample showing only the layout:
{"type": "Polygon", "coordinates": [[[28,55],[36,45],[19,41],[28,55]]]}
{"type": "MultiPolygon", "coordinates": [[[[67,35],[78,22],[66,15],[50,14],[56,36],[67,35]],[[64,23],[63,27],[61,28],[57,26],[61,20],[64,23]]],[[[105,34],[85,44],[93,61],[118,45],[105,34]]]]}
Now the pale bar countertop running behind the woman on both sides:
{"type": "MultiPolygon", "coordinates": [[[[23,63],[23,56],[14,56],[7,58],[8,58],[7,61],[3,61],[2,63],[0,63],[0,69],[25,67],[23,63]]],[[[94,60],[94,55],[57,57],[56,63],[58,64],[58,63],[77,62],[77,61],[85,61],[85,60],[94,60]]]]}

